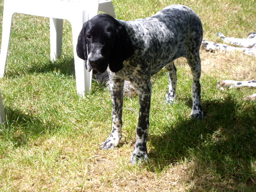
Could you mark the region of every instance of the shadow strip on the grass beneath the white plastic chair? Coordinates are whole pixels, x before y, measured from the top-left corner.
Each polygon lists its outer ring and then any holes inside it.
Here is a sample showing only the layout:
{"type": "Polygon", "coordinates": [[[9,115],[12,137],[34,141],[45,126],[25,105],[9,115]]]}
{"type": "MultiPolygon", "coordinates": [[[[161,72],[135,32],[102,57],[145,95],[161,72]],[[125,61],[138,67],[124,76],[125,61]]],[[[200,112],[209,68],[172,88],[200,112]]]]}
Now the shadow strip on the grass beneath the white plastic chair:
{"type": "Polygon", "coordinates": [[[74,58],[64,57],[59,58],[56,61],[34,61],[30,62],[28,65],[14,65],[8,66],[6,70],[6,76],[21,76],[24,74],[34,74],[34,73],[48,73],[58,71],[60,74],[65,76],[75,76],[74,58]]]}

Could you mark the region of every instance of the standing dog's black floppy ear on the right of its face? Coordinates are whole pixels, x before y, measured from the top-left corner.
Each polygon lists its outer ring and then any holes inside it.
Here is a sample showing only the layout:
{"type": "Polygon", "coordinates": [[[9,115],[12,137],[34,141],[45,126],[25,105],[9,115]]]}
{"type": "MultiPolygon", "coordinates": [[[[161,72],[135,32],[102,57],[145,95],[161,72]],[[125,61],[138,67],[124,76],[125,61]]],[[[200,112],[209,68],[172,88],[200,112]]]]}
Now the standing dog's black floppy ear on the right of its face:
{"type": "Polygon", "coordinates": [[[112,72],[118,72],[123,68],[123,61],[134,53],[130,37],[122,24],[115,22],[116,40],[110,54],[109,68],[112,72]]]}

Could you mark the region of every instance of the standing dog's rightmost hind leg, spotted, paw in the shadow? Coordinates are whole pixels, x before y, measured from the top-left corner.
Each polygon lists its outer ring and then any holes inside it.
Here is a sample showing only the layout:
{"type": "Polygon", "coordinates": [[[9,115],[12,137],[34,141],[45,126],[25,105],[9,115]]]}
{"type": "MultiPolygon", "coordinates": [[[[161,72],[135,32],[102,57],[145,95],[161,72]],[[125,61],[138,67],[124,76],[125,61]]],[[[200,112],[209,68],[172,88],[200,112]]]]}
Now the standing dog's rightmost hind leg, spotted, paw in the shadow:
{"type": "Polygon", "coordinates": [[[201,61],[198,54],[191,55],[187,58],[188,65],[190,66],[193,83],[192,83],[192,112],[191,118],[204,119],[204,113],[201,106],[201,85],[200,85],[200,76],[201,76],[201,61]]]}

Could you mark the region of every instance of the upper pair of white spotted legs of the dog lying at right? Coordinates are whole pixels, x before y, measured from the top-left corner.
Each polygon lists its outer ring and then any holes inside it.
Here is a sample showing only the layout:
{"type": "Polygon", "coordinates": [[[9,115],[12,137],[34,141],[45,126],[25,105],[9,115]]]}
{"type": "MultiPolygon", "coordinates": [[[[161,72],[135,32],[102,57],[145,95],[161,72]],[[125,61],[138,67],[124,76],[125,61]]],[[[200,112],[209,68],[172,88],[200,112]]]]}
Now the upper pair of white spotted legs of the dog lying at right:
{"type": "Polygon", "coordinates": [[[226,43],[230,43],[235,46],[229,46],[227,44],[214,43],[212,41],[202,41],[202,47],[210,52],[214,52],[216,50],[224,50],[224,51],[234,51],[240,50],[243,51],[244,54],[256,56],[256,32],[249,33],[248,38],[234,38],[234,37],[226,37],[222,33],[217,33],[217,36],[220,36],[222,40],[226,43]]]}

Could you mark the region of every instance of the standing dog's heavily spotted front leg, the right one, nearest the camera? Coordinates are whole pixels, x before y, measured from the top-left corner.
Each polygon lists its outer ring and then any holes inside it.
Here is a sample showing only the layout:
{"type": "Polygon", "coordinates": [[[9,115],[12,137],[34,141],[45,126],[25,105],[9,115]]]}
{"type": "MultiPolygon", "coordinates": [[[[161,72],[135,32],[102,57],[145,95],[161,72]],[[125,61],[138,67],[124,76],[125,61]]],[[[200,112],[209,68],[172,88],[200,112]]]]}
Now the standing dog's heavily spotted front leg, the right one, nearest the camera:
{"type": "Polygon", "coordinates": [[[149,113],[151,99],[151,82],[132,83],[139,96],[140,113],[136,132],[136,143],[130,162],[136,164],[148,160],[147,140],[149,128],[149,113]]]}

